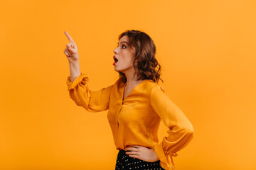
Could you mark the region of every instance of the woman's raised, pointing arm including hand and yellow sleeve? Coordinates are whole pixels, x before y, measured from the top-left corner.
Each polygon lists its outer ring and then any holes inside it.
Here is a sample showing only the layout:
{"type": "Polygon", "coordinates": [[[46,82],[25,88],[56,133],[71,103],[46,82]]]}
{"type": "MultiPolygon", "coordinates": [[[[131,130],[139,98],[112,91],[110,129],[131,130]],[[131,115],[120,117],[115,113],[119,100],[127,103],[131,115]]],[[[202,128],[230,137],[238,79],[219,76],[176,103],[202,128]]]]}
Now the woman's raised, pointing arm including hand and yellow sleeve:
{"type": "Polygon", "coordinates": [[[91,91],[89,89],[87,75],[80,73],[78,47],[70,35],[67,32],[64,33],[70,41],[70,44],[67,44],[64,50],[70,66],[70,77],[67,79],[70,98],[78,106],[82,106],[90,112],[107,110],[109,108],[110,93],[113,85],[98,91],[91,91]]]}

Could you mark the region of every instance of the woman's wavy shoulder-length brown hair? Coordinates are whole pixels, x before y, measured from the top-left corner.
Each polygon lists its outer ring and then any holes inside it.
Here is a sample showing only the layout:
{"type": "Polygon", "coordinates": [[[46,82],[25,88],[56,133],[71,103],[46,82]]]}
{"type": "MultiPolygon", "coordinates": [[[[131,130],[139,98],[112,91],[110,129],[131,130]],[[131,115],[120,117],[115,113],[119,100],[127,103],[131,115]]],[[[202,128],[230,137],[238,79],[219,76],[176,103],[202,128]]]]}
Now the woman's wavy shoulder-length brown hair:
{"type": "MultiPolygon", "coordinates": [[[[128,37],[129,47],[135,49],[135,58],[133,67],[135,74],[137,74],[137,80],[151,79],[154,82],[159,82],[161,74],[161,66],[156,60],[156,46],[153,40],[146,33],[139,30],[126,30],[119,35],[119,40],[124,36],[128,37]]],[[[124,83],[127,78],[124,73],[119,72],[119,79],[122,79],[124,83]]],[[[161,79],[162,82],[164,82],[161,79]]]]}

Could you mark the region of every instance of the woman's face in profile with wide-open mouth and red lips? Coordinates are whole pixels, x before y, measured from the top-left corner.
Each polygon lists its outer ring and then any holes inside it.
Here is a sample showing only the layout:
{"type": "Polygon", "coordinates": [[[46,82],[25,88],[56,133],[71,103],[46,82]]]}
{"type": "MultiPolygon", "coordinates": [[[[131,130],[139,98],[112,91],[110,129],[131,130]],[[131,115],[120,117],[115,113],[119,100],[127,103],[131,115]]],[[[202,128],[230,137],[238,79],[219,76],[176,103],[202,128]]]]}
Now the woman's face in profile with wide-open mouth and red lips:
{"type": "Polygon", "coordinates": [[[124,35],[120,38],[118,46],[114,49],[114,70],[117,72],[125,72],[134,69],[133,62],[135,50],[128,46],[128,36],[124,35]]]}

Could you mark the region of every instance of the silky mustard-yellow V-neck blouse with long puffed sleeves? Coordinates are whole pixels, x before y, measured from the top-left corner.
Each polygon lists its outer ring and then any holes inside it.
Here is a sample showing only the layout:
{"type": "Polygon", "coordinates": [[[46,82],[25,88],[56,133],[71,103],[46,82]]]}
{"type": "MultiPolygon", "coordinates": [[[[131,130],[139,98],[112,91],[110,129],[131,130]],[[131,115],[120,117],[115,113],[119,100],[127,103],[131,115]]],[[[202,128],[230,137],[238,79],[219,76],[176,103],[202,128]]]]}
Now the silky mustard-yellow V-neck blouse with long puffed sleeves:
{"type": "Polygon", "coordinates": [[[164,169],[175,169],[172,157],[193,138],[193,126],[186,115],[169,99],[156,82],[146,79],[124,98],[124,82],[98,91],[88,88],[87,74],[67,79],[70,98],[89,112],[106,111],[117,149],[127,145],[154,148],[164,169]],[[158,144],[158,128],[163,121],[168,137],[158,144]]]}

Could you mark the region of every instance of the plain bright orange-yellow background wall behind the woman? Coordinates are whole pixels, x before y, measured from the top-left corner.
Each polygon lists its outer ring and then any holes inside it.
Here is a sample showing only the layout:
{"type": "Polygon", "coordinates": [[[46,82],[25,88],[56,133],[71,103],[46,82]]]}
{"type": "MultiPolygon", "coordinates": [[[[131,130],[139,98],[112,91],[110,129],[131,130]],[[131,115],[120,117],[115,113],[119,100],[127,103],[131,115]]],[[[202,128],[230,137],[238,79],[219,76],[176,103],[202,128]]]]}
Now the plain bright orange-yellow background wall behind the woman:
{"type": "MultiPolygon", "coordinates": [[[[66,30],[90,89],[110,86],[127,29],[156,44],[166,94],[194,137],[177,170],[256,169],[256,1],[0,1],[0,169],[114,169],[107,111],[68,95],[66,30]]],[[[159,140],[166,134],[161,124],[159,140]]]]}

